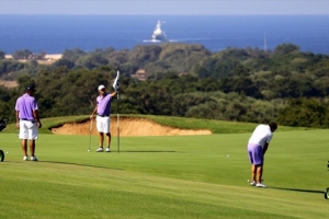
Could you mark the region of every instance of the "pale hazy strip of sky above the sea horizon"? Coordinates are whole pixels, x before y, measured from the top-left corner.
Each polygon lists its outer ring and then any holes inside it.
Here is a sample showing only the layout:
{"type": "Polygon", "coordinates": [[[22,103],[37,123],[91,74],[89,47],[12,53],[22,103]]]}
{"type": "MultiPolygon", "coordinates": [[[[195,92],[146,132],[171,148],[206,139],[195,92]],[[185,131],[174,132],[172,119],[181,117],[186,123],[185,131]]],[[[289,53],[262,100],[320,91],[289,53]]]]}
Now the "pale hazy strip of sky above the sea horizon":
{"type": "Polygon", "coordinates": [[[329,0],[0,0],[0,14],[329,14],[329,0]]]}

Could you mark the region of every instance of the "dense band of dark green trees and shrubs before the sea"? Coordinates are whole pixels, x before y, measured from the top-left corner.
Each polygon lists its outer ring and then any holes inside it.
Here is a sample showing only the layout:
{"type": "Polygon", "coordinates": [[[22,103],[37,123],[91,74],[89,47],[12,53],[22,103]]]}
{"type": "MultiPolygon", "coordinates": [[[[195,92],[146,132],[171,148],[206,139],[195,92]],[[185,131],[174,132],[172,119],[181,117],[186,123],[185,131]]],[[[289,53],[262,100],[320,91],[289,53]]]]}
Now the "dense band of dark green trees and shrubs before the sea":
{"type": "Polygon", "coordinates": [[[217,53],[202,45],[173,43],[132,50],[75,48],[52,65],[37,61],[43,53],[15,54],[5,59],[0,51],[1,79],[19,84],[0,87],[0,115],[11,119],[16,97],[31,83],[37,87],[42,117],[89,114],[98,84],[111,91],[120,70],[121,113],[329,126],[329,56],[304,53],[293,44],[273,50],[228,47],[217,53]],[[31,59],[21,61],[27,54],[31,59]],[[136,74],[140,70],[143,77],[136,74]]]}

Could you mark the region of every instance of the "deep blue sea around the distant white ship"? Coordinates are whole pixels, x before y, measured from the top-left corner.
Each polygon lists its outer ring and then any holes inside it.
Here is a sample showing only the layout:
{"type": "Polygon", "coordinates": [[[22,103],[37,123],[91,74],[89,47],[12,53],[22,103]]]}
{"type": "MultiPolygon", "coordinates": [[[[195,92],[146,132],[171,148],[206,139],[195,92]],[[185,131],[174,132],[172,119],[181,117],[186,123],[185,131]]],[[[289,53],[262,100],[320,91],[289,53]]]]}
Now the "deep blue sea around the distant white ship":
{"type": "Polygon", "coordinates": [[[148,41],[158,20],[170,42],[202,44],[212,51],[227,47],[273,50],[291,43],[302,51],[329,55],[329,15],[0,14],[0,50],[61,54],[72,48],[132,49],[152,44],[148,41]]]}

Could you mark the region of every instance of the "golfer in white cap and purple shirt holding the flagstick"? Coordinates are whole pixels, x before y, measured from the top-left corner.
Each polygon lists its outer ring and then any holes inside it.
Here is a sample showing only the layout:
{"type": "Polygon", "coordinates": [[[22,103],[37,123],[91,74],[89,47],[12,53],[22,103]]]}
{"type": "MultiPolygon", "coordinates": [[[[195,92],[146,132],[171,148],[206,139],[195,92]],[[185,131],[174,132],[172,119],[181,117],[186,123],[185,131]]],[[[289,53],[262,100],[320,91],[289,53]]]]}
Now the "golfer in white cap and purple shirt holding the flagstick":
{"type": "Polygon", "coordinates": [[[116,95],[116,92],[109,94],[105,92],[104,85],[99,85],[100,95],[97,97],[97,106],[92,112],[90,119],[93,119],[93,115],[98,113],[97,116],[97,127],[100,134],[100,148],[97,152],[103,152],[103,143],[104,143],[104,134],[107,137],[107,147],[106,152],[111,152],[111,134],[110,134],[110,108],[112,97],[116,95]]]}

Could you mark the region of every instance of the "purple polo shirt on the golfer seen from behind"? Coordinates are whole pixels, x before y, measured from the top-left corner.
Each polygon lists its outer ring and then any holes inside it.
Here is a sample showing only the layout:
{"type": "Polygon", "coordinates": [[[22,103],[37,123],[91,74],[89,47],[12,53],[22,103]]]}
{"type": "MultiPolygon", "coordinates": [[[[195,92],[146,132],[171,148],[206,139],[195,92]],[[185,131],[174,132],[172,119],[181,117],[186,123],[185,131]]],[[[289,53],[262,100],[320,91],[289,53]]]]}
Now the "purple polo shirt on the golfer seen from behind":
{"type": "Polygon", "coordinates": [[[35,97],[27,93],[20,96],[16,101],[15,110],[19,111],[19,118],[33,120],[33,111],[37,111],[37,103],[35,97]]]}

